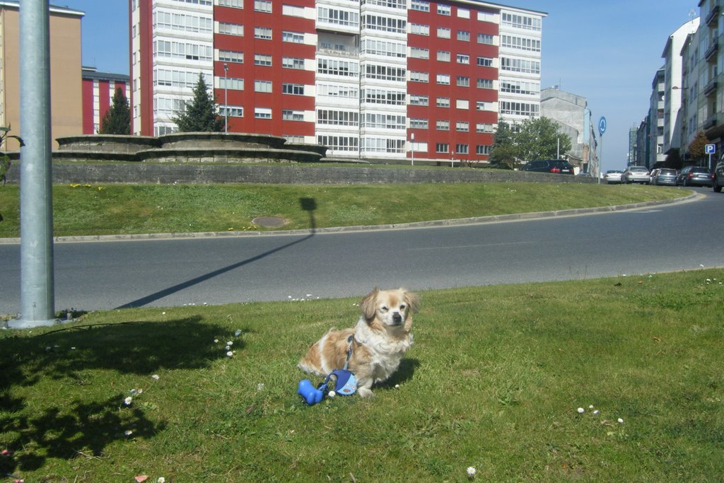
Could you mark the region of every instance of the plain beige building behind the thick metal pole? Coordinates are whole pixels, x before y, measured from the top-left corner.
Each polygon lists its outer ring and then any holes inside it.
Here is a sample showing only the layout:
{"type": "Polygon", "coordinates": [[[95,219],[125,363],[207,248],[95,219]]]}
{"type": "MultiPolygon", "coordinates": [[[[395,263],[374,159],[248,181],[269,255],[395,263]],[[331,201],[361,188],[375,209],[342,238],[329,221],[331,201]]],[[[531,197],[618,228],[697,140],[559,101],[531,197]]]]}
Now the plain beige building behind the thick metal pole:
{"type": "MultiPolygon", "coordinates": [[[[84,13],[50,7],[51,136],[83,133],[80,20],[84,13]]],[[[0,0],[0,126],[22,137],[20,122],[20,6],[0,0]]],[[[54,148],[57,144],[54,143],[54,148]]],[[[5,149],[17,150],[14,140],[5,149]]]]}

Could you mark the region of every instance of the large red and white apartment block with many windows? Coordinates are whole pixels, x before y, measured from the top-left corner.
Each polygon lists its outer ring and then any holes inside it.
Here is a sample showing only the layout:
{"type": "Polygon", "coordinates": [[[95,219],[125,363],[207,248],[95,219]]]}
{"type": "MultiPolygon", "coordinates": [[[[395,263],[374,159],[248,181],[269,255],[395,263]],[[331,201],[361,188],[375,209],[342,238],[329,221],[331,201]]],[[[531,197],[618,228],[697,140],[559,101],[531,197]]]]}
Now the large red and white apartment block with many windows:
{"type": "Polygon", "coordinates": [[[485,161],[499,119],[539,115],[545,16],[474,0],[130,0],[132,133],[173,132],[201,72],[230,133],[485,161]]]}

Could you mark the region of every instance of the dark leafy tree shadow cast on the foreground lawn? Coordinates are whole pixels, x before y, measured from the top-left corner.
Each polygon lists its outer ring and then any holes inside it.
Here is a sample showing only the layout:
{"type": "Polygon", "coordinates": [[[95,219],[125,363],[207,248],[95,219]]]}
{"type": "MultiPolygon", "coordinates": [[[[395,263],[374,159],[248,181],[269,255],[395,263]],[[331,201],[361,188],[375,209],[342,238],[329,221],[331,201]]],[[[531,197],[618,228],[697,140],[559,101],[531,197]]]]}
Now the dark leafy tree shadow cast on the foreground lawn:
{"type": "Polygon", "coordinates": [[[244,348],[227,327],[199,322],[201,317],[193,316],[160,323],[65,327],[33,337],[1,339],[0,434],[11,439],[0,440],[0,450],[19,454],[0,457],[0,475],[16,468],[39,469],[47,458],[101,456],[111,442],[127,439],[127,430],[132,437],[149,438],[165,429],[146,417],[143,405],[124,405],[128,388],[64,406],[55,406],[50,395],[46,401],[30,401],[15,390],[43,378],[90,385],[85,371],[150,378],[164,369],[202,369],[226,357],[225,350],[214,346],[214,339],[235,340],[235,350],[244,348]],[[31,403],[43,408],[38,410],[42,412],[29,411],[31,403]]]}

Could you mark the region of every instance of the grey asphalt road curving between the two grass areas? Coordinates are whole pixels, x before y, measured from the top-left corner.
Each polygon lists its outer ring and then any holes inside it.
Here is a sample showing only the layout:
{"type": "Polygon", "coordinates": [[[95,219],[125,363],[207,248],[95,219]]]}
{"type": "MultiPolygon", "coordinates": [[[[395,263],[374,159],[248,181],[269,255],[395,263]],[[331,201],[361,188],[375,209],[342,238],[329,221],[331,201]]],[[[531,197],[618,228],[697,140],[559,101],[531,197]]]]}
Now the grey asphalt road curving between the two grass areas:
{"type": "MultiPolygon", "coordinates": [[[[336,298],[724,266],[724,193],[629,211],[452,227],[56,243],[55,308],[336,298]]],[[[0,314],[20,245],[0,244],[0,314]]]]}

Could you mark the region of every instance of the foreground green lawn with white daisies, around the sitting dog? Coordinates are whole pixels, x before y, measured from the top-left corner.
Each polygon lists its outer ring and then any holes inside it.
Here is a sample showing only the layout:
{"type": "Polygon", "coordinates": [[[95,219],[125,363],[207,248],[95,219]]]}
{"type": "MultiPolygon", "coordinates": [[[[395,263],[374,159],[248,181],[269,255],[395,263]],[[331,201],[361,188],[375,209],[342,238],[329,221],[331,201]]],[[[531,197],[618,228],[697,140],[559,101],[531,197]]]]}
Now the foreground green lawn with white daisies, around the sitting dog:
{"type": "Polygon", "coordinates": [[[722,281],[707,269],[424,291],[415,345],[376,398],[311,407],[295,395],[298,358],[353,324],[364,294],[3,330],[0,450],[13,453],[0,471],[466,482],[473,466],[479,482],[721,481],[722,281]]]}

